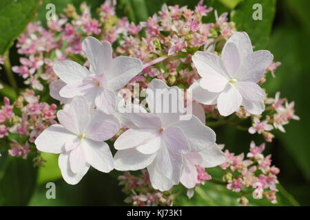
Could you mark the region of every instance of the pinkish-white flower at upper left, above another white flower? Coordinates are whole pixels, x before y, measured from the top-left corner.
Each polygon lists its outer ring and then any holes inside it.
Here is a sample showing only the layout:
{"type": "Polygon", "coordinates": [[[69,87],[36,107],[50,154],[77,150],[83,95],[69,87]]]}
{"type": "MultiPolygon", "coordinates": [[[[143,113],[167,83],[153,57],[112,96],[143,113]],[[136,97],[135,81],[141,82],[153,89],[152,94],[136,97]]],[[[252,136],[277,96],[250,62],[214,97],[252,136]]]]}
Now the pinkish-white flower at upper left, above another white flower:
{"type": "Polygon", "coordinates": [[[138,58],[118,56],[112,59],[109,42],[101,43],[92,36],[82,43],[90,70],[74,61],[56,61],[53,69],[66,84],[59,94],[63,98],[84,96],[91,106],[105,113],[116,110],[116,92],[143,69],[138,58]]]}

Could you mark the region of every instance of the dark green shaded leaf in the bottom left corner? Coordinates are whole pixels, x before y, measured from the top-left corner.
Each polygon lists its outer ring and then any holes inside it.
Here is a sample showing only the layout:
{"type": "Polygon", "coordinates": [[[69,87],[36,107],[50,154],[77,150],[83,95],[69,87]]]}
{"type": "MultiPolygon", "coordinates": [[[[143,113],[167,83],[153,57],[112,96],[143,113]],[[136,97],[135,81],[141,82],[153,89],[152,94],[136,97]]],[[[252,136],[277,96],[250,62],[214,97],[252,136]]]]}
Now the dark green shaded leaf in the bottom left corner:
{"type": "Polygon", "coordinates": [[[37,179],[32,157],[0,157],[0,205],[25,206],[32,197],[37,179]]]}

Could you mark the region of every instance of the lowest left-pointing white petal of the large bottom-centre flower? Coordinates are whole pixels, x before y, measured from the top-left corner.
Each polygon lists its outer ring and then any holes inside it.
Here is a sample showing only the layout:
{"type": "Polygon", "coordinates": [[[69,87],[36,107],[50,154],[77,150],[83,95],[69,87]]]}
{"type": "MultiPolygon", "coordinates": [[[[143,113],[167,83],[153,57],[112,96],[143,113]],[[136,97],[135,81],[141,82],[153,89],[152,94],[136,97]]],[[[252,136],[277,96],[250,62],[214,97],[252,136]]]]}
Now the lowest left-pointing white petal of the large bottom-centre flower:
{"type": "Polygon", "coordinates": [[[114,167],[116,170],[141,170],[153,162],[156,153],[143,154],[136,148],[117,151],[114,155],[114,167]]]}

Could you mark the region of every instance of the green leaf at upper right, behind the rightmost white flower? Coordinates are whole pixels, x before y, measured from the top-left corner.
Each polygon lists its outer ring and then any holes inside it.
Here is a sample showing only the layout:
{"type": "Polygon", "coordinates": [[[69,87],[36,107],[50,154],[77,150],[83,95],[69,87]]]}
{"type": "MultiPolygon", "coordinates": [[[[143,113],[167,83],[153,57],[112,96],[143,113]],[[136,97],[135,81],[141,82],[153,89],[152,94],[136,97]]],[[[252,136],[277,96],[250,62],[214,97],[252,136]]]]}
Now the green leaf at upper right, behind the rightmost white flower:
{"type": "Polygon", "coordinates": [[[231,21],[236,23],[238,31],[249,34],[255,50],[265,49],[268,44],[273,18],[276,12],[276,0],[247,0],[242,1],[234,11],[231,12],[231,21]],[[254,20],[253,5],[262,5],[262,20],[254,20]]]}

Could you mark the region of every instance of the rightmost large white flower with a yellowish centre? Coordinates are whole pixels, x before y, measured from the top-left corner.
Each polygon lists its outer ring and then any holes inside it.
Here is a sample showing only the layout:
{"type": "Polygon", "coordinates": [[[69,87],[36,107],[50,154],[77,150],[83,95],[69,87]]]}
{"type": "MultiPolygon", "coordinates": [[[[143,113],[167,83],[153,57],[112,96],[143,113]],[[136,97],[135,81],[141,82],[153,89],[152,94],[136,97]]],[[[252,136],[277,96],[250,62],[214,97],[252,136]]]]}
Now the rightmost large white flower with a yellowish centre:
{"type": "Polygon", "coordinates": [[[196,52],[193,62],[202,77],[191,88],[203,104],[218,104],[221,115],[234,113],[242,105],[251,114],[265,110],[265,92],[256,84],[273,60],[267,50],[253,52],[249,36],[236,32],[225,43],[221,57],[196,52]]]}

